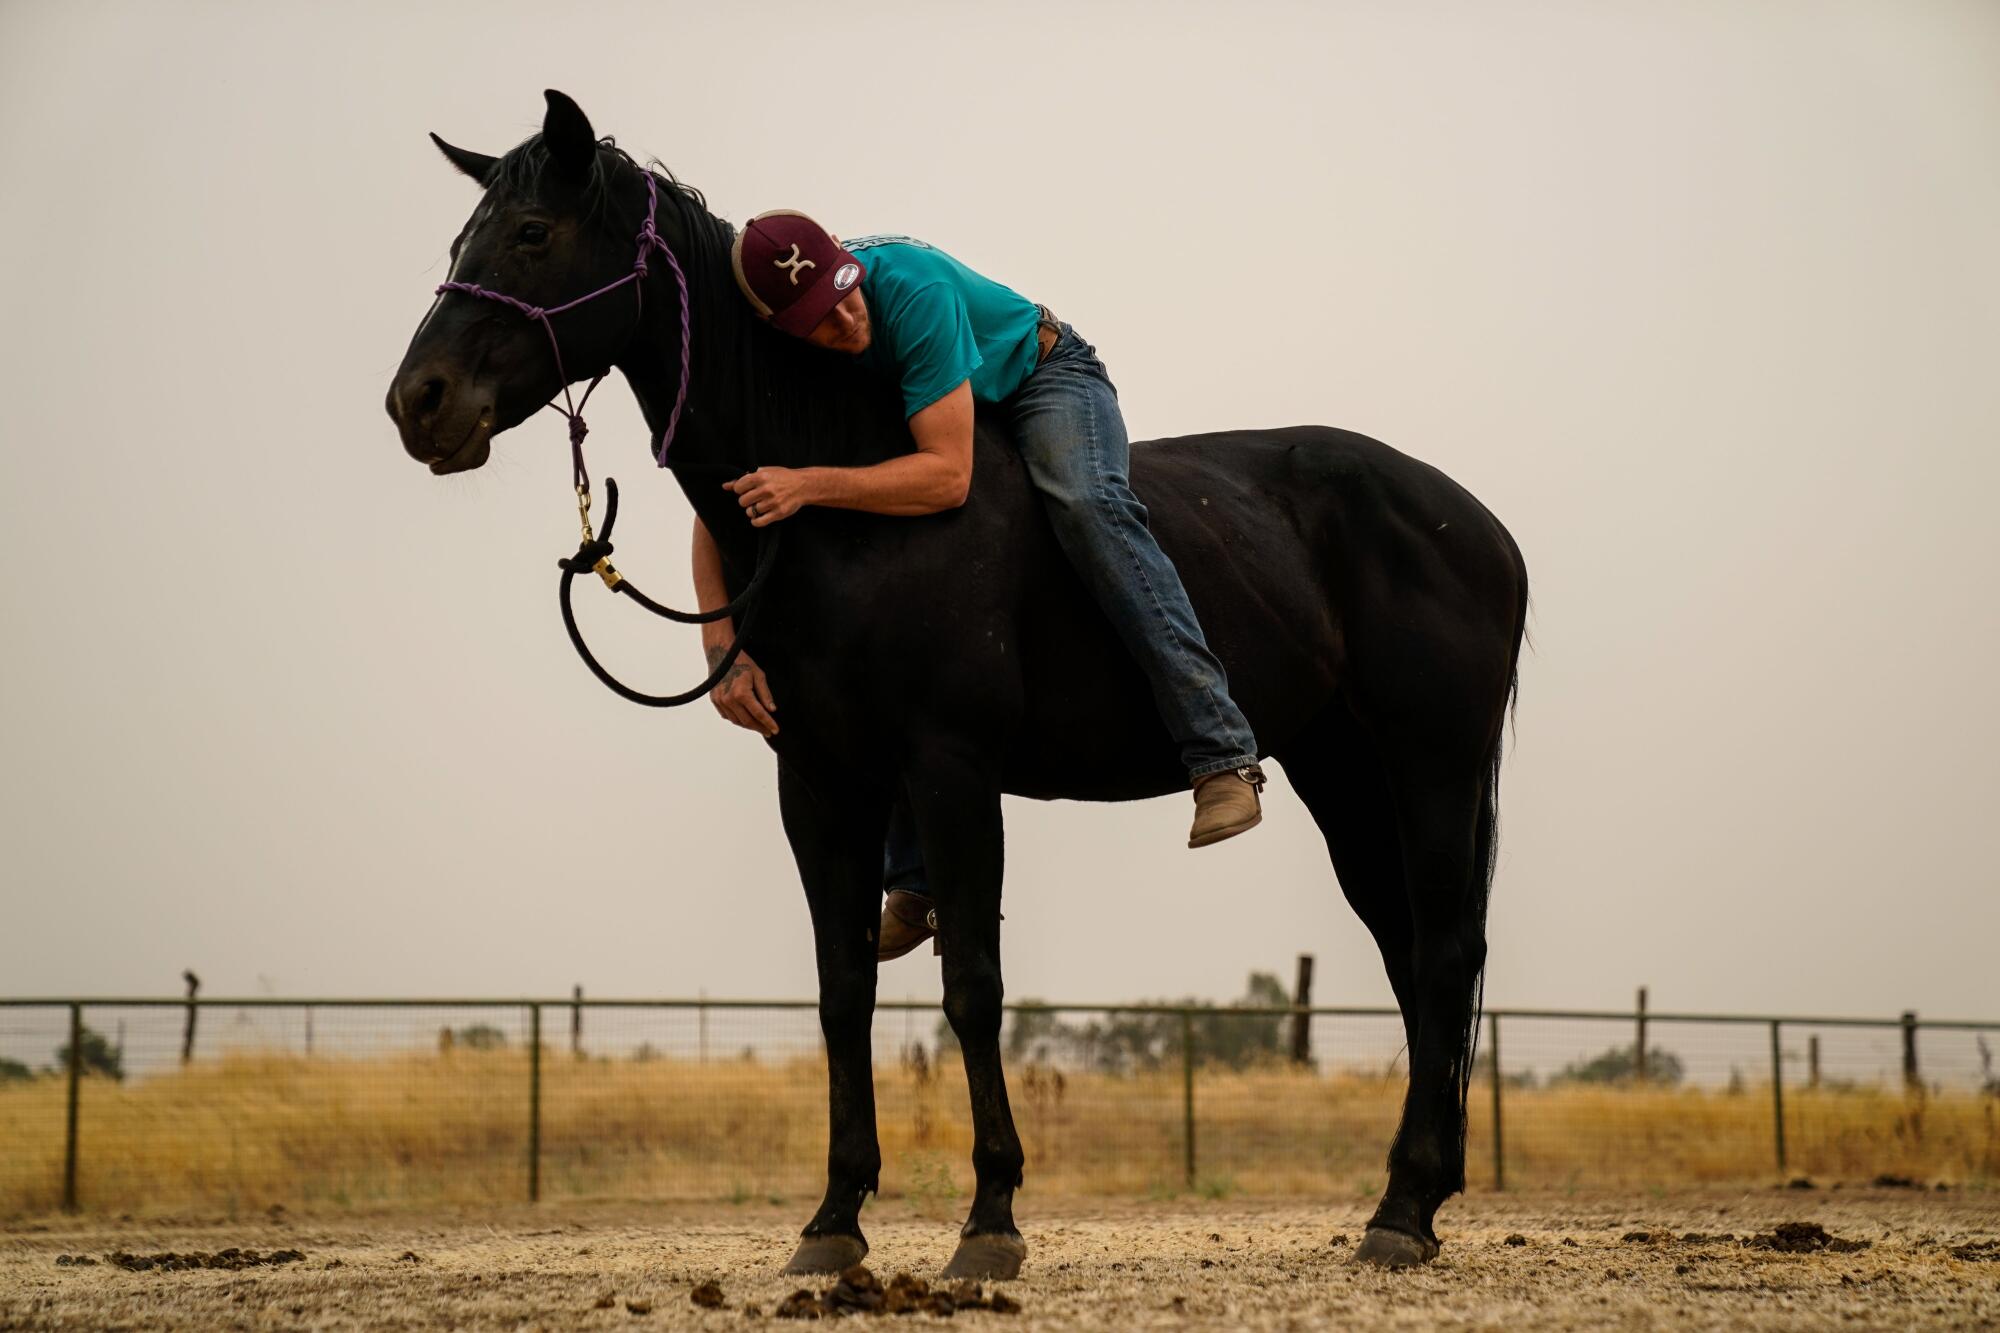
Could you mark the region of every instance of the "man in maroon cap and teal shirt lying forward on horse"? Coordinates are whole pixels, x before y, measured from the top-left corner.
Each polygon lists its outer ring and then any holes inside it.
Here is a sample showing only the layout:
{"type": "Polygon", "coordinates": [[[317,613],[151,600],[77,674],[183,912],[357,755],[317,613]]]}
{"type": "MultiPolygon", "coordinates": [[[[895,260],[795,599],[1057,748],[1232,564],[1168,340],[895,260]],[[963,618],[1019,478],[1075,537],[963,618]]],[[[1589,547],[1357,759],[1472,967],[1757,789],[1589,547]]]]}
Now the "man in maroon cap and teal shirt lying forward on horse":
{"type": "MultiPolygon", "coordinates": [[[[806,214],[780,208],[744,226],[732,258],[760,318],[898,382],[914,442],[912,452],[872,466],[766,466],[728,482],[752,526],[790,518],[806,504],[894,516],[958,508],[972,486],[972,404],[1004,404],[1056,540],[1144,669],[1180,747],[1194,785],[1188,847],[1256,827],[1264,783],[1256,739],[1174,562],[1146,526],[1146,506],[1132,494],[1118,390],[1096,348],[1048,306],[910,236],[842,244],[806,214]]],[[[702,610],[730,600],[722,556],[700,518],[694,584],[702,610]]],[[[706,626],[710,662],[732,636],[730,620],[706,626]]],[[[778,733],[770,683],[748,654],[712,699],[738,727],[778,733]]],[[[936,923],[908,803],[898,803],[890,821],[884,877],[880,957],[896,959],[936,923]]]]}

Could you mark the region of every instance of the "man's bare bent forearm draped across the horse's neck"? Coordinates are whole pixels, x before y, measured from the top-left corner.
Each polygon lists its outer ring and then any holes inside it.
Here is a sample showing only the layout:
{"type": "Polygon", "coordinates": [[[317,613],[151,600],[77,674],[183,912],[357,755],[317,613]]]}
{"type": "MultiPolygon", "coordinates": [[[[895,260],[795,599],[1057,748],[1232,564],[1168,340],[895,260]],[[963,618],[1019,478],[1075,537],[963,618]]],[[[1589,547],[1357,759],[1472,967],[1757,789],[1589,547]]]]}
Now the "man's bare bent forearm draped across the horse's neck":
{"type": "Polygon", "coordinates": [[[750,514],[754,528],[790,518],[806,504],[898,518],[964,504],[972,490],[972,380],[962,380],[912,416],[910,434],[916,438],[914,454],[866,468],[758,468],[724,482],[724,488],[736,492],[744,510],[756,508],[750,514]]]}

